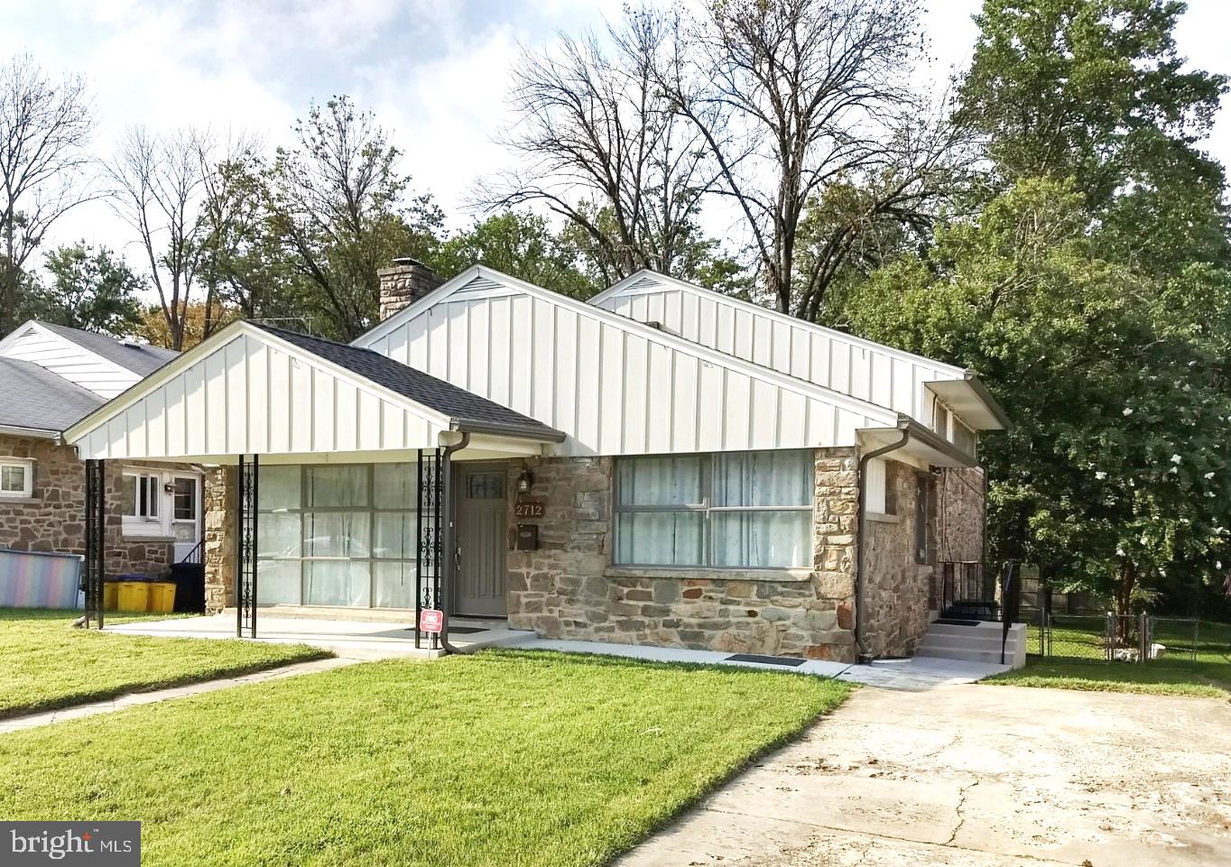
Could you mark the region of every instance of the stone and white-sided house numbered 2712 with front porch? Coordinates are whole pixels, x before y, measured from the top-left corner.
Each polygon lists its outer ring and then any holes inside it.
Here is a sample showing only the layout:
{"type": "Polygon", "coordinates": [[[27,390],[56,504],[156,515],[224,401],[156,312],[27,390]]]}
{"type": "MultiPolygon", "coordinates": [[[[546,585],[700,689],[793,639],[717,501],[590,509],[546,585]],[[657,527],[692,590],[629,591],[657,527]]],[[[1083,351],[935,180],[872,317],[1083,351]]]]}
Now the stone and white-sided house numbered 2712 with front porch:
{"type": "MultiPolygon", "coordinates": [[[[382,271],[351,346],[236,322],[66,432],[211,464],[209,605],[444,608],[548,637],[913,653],[982,558],[968,371],[641,272],[590,303],[382,271]]],[[[255,627],[252,627],[255,630],[255,627]]]]}

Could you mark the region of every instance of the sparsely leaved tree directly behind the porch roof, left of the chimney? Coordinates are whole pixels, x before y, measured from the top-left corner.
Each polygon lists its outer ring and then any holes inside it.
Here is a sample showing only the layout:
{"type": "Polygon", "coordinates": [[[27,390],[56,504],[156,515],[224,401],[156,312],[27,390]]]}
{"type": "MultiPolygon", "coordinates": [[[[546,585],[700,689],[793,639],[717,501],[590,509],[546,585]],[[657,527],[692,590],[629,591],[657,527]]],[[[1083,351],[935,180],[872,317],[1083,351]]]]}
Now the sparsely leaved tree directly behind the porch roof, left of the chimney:
{"type": "Polygon", "coordinates": [[[268,231],[305,284],[305,312],[351,339],[379,319],[377,271],[395,256],[431,261],[443,218],[431,196],[405,202],[401,152],[350,97],[313,105],[294,135],[268,173],[268,231]]]}

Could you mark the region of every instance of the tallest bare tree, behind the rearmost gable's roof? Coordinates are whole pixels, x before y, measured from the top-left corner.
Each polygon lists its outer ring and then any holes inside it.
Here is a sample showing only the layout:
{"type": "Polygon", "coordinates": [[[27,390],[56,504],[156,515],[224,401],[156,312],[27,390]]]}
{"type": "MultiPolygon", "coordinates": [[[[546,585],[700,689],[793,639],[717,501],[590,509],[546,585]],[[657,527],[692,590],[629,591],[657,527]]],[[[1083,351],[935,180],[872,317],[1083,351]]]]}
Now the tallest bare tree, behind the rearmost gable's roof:
{"type": "Polygon", "coordinates": [[[661,79],[699,130],[718,168],[714,192],[742,218],[783,312],[815,320],[862,234],[929,220],[933,178],[964,159],[959,130],[905,84],[922,44],[918,20],[915,0],[712,4],[683,66],[691,74],[661,79]],[[800,273],[809,210],[828,225],[800,273]]]}

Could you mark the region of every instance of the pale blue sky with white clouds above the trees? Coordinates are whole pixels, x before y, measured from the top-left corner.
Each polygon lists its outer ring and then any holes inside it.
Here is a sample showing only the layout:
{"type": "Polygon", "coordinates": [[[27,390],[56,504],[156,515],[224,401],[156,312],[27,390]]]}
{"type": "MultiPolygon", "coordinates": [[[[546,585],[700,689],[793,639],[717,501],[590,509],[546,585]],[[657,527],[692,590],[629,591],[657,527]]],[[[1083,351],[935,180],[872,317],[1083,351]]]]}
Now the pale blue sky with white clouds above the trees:
{"type": "MultiPolygon", "coordinates": [[[[106,159],[124,130],[196,124],[288,141],[313,100],[348,93],[405,156],[416,191],[448,225],[470,223],[474,181],[510,165],[508,69],[521,46],[601,27],[623,0],[0,0],[0,57],[28,50],[52,74],[84,74],[106,159]]],[[[929,0],[929,75],[969,63],[980,0],[929,0]]],[[[1192,65],[1231,73],[1231,2],[1190,0],[1177,43],[1192,65]]],[[[1231,165],[1231,111],[1209,150],[1231,165]]],[[[101,202],[70,212],[50,245],[85,239],[137,258],[130,230],[101,202]]]]}

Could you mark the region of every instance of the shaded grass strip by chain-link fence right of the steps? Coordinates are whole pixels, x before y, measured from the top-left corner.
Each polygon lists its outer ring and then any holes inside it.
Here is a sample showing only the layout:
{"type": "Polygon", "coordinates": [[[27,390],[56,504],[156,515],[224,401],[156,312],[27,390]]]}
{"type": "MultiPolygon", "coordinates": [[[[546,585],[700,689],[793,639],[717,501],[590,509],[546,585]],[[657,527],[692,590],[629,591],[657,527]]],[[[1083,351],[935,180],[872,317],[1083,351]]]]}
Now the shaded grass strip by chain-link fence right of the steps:
{"type": "Polygon", "coordinates": [[[1104,628],[1101,617],[1069,619],[1053,628],[1053,647],[1065,657],[1030,657],[1024,669],[984,683],[1206,699],[1231,695],[1231,626],[1201,621],[1194,642],[1189,625],[1160,621],[1153,641],[1167,653],[1144,664],[1104,662],[1104,628]]]}

